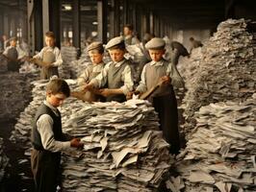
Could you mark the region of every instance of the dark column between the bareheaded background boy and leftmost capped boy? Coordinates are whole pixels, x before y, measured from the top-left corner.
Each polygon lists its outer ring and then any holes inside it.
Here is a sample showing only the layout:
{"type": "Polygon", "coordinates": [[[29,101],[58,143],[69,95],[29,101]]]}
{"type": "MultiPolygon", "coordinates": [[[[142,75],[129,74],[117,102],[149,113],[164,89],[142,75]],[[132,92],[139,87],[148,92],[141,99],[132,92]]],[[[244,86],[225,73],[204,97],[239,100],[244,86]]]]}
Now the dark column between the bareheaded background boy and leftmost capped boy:
{"type": "Polygon", "coordinates": [[[77,48],[78,57],[81,55],[81,35],[80,35],[80,0],[73,0],[73,46],[77,48]]]}

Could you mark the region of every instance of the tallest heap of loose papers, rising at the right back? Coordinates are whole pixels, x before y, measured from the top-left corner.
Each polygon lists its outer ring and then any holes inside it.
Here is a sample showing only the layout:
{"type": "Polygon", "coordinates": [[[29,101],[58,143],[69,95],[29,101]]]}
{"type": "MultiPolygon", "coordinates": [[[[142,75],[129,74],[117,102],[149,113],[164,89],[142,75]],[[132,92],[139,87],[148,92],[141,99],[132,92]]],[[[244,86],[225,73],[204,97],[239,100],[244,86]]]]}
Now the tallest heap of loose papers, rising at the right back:
{"type": "Polygon", "coordinates": [[[256,36],[247,31],[248,24],[244,19],[221,22],[202,48],[201,60],[192,63],[196,69],[181,73],[188,88],[184,98],[188,131],[198,108],[220,101],[244,101],[255,92],[256,36]]]}

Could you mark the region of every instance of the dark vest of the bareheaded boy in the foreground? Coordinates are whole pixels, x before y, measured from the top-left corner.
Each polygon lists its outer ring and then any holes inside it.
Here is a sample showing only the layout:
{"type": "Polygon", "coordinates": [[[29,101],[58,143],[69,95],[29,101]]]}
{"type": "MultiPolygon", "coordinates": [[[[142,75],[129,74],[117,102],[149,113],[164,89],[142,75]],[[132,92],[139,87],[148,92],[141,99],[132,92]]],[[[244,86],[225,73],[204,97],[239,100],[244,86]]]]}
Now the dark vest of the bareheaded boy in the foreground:
{"type": "Polygon", "coordinates": [[[42,104],[36,113],[34,122],[33,122],[33,129],[32,129],[32,135],[31,135],[31,141],[32,145],[36,150],[44,150],[42,143],[41,143],[41,138],[40,134],[37,129],[37,121],[40,115],[42,114],[48,114],[52,117],[53,119],[53,133],[54,133],[54,139],[58,141],[63,141],[63,131],[62,131],[62,119],[61,119],[61,114],[57,116],[51,108],[45,106],[42,104]]]}

